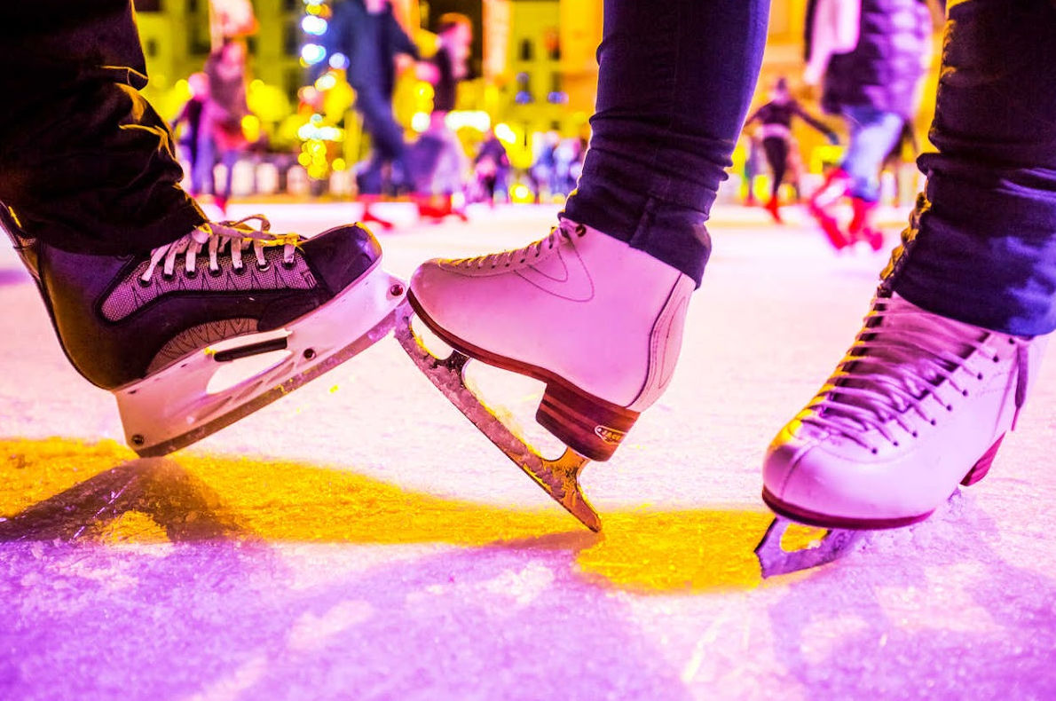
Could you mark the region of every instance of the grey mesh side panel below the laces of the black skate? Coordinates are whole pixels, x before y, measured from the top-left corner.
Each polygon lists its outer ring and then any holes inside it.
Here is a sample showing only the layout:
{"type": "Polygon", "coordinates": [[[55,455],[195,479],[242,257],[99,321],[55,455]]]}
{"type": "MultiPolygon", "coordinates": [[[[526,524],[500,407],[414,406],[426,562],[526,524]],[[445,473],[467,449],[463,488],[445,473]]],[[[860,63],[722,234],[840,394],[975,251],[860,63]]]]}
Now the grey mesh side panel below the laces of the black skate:
{"type": "Polygon", "coordinates": [[[218,259],[221,273],[212,276],[209,273],[208,253],[200,254],[194,264],[195,274],[188,278],[184,258],[181,255],[176,260],[171,280],[165,279],[162,265],[158,265],[146,285],[139,281],[139,277],[147,270],[148,261],[144,261],[102,302],[102,315],[110,321],[120,321],[163,295],[183,290],[312,289],[316,286],[316,278],[300,253],[295,253],[294,265],[290,267],[282,264],[281,247],[265,249],[264,260],[267,261],[267,267],[261,270],[257,267],[252,250],[243,251],[243,272],[235,273],[230,255],[225,253],[218,259]]]}

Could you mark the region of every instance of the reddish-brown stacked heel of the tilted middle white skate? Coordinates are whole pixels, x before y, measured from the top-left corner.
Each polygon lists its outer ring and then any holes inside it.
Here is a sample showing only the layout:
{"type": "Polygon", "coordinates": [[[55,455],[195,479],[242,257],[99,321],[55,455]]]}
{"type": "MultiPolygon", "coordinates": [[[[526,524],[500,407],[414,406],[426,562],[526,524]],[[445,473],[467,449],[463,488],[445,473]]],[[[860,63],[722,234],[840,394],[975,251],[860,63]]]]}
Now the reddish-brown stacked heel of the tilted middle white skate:
{"type": "Polygon", "coordinates": [[[612,457],[638,415],[551,382],[546,385],[535,420],[580,455],[604,461],[612,457]]]}

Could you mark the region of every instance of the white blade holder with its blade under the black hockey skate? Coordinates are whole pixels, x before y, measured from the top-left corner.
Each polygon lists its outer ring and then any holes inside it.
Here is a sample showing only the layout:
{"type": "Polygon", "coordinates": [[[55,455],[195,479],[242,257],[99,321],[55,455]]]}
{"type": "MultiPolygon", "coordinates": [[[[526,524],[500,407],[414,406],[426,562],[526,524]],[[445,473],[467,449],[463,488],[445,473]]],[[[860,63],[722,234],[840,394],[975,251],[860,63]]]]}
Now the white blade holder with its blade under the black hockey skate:
{"type": "Polygon", "coordinates": [[[140,457],[166,455],[334,370],[393,329],[406,289],[376,265],[284,329],[225,339],[116,391],[128,444],[140,457]],[[240,366],[251,374],[215,389],[219,375],[240,366]]]}

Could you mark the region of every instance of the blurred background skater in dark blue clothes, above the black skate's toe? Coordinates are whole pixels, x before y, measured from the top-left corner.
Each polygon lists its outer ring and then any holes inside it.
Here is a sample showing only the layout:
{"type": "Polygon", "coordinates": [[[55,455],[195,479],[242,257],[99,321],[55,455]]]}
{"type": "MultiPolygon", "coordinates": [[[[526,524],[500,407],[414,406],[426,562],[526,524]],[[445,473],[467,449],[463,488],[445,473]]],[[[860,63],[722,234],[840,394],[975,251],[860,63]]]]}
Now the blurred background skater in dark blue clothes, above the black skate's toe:
{"type": "Polygon", "coordinates": [[[389,0],[344,0],[335,3],[329,29],[323,35],[327,60],[317,64],[313,77],[326,70],[328,61],[347,61],[345,76],[356,91],[356,111],[363,131],[371,137],[371,155],[356,169],[356,186],[364,203],[364,221],[384,226],[370,211],[383,191],[402,193],[411,189],[403,128],[393,114],[396,65],[400,57],[415,61],[418,48],[400,26],[389,0]]]}

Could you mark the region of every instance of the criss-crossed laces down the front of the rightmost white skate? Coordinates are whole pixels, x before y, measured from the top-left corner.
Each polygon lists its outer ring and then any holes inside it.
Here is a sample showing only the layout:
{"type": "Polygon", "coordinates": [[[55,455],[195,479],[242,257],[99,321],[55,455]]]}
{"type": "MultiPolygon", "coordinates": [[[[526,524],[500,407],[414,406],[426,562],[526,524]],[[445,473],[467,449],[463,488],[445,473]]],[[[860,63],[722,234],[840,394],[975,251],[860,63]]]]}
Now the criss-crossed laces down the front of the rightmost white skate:
{"type": "MultiPolygon", "coordinates": [[[[928,395],[938,400],[938,404],[930,404],[932,410],[938,405],[953,412],[954,405],[937,393],[939,386],[945,384],[967,397],[963,380],[983,379],[982,373],[957,374],[969,357],[981,354],[995,363],[1002,360],[986,343],[992,336],[985,331],[973,334],[966,324],[926,315],[905,302],[879,298],[862,333],[812,402],[814,411],[802,420],[873,452],[876,449],[863,436],[870,430],[894,446],[899,444],[894,427],[916,438],[918,421],[931,425],[938,422],[925,402],[928,395]]],[[[1019,375],[1018,415],[1026,394],[1026,342],[1015,337],[1008,337],[1008,342],[1015,346],[1019,375]]]]}

